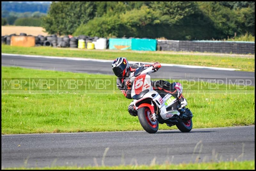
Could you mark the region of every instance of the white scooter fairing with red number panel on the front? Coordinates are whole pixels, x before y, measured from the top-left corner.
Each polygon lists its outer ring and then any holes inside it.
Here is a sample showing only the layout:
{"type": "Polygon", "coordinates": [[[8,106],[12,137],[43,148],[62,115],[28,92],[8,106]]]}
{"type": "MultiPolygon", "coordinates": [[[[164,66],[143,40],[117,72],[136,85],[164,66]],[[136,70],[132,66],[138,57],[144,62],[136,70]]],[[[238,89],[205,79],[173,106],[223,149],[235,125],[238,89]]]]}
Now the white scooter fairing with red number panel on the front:
{"type": "Polygon", "coordinates": [[[131,92],[132,97],[136,95],[136,93],[139,94],[144,90],[149,90],[149,92],[143,95],[143,97],[139,100],[133,99],[133,105],[135,106],[136,109],[138,109],[139,105],[136,105],[137,102],[150,98],[156,103],[158,108],[161,110],[160,115],[164,120],[171,118],[173,115],[180,115],[178,110],[166,111],[166,108],[175,103],[177,99],[169,93],[166,94],[164,98],[162,98],[155,90],[153,90],[149,76],[149,74],[152,72],[152,67],[148,67],[148,69],[142,71],[142,73],[139,76],[130,78],[131,82],[133,82],[131,92]]]}

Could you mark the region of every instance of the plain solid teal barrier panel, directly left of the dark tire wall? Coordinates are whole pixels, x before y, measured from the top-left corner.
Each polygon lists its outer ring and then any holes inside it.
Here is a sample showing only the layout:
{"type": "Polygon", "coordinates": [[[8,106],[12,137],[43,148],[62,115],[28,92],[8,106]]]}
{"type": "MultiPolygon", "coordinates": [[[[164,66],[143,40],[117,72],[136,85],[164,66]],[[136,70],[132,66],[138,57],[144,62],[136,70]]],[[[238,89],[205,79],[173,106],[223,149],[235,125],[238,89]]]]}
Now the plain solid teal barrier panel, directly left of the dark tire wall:
{"type": "Polygon", "coordinates": [[[132,39],[132,50],[156,51],[155,39],[132,39]]]}

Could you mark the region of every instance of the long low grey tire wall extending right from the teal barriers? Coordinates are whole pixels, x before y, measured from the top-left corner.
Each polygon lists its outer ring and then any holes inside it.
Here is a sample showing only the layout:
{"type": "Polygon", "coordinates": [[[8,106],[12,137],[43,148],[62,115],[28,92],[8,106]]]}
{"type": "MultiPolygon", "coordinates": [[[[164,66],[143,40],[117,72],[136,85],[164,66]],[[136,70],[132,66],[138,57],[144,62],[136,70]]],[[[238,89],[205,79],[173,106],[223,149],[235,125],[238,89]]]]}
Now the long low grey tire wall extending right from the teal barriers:
{"type": "Polygon", "coordinates": [[[159,50],[254,54],[255,42],[158,40],[159,50]]]}

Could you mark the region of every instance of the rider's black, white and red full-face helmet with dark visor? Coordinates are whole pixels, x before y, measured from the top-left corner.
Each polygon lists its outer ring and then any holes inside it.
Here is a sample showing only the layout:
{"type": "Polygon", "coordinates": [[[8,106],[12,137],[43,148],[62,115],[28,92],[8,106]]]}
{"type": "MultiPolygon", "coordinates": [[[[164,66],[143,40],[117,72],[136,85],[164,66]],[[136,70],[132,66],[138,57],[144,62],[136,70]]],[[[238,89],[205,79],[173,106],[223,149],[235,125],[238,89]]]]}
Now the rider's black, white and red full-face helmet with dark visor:
{"type": "Polygon", "coordinates": [[[116,77],[128,77],[130,75],[130,65],[125,57],[118,57],[112,63],[112,69],[116,77]]]}

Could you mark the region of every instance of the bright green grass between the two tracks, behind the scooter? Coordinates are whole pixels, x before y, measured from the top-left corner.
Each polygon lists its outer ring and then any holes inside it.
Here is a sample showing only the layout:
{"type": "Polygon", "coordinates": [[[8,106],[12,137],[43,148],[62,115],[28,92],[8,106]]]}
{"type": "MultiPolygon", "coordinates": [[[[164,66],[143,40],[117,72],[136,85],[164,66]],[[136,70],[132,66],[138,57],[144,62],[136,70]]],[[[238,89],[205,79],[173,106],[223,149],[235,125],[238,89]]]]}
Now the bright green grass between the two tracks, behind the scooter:
{"type": "MultiPolygon", "coordinates": [[[[108,75],[2,66],[2,134],[143,130],[138,117],[129,115],[127,111],[132,100],[124,97],[116,88],[115,81],[115,77],[108,75]],[[87,82],[84,82],[87,90],[81,88],[81,91],[56,91],[59,82],[56,86],[43,84],[43,92],[37,92],[39,85],[33,91],[28,86],[12,93],[3,91],[10,90],[8,87],[4,89],[3,78],[28,77],[87,78],[87,82]],[[99,90],[96,84],[88,86],[88,80],[102,77],[111,82],[106,88],[99,90]]],[[[14,88],[21,88],[19,83],[14,85],[14,88]]],[[[236,85],[220,85],[218,91],[208,88],[204,82],[196,82],[183,89],[188,108],[194,115],[193,128],[255,124],[254,87],[248,86],[241,90],[236,85]]],[[[160,124],[159,129],[170,130],[177,127],[160,124]]]]}

